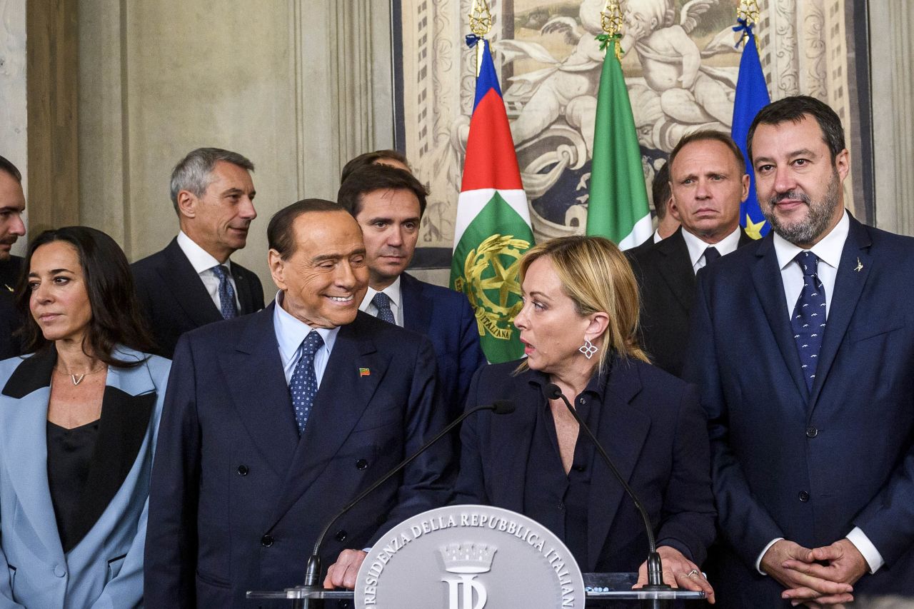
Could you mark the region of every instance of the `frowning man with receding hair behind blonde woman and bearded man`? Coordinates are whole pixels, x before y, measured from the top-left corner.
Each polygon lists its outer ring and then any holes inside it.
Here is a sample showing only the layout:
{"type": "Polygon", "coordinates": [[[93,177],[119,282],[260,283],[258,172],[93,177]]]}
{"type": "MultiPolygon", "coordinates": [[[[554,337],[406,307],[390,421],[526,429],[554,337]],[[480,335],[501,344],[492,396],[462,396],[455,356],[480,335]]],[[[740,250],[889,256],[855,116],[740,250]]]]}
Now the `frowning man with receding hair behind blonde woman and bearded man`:
{"type": "Polygon", "coordinates": [[[654,363],[681,376],[696,273],[752,240],[739,228],[749,175],[728,134],[698,131],[670,153],[669,213],[682,225],[653,247],[629,254],[641,287],[643,348],[654,363]]]}

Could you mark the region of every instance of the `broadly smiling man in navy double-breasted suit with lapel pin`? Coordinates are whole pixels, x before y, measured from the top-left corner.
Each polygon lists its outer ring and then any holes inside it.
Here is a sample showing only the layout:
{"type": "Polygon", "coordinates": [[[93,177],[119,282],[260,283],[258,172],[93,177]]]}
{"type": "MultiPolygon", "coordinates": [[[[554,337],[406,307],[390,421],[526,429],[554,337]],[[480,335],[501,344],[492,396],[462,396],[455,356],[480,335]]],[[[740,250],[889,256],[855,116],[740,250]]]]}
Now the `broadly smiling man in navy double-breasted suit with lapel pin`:
{"type": "MultiPolygon", "coordinates": [[[[268,228],[276,300],[178,342],[149,498],[145,606],[250,606],[303,582],[319,531],[444,426],[431,344],[358,310],[356,220],[305,199],[268,228]]],[[[450,495],[448,438],[335,522],[324,585],[355,585],[367,548],[450,495]]]]}

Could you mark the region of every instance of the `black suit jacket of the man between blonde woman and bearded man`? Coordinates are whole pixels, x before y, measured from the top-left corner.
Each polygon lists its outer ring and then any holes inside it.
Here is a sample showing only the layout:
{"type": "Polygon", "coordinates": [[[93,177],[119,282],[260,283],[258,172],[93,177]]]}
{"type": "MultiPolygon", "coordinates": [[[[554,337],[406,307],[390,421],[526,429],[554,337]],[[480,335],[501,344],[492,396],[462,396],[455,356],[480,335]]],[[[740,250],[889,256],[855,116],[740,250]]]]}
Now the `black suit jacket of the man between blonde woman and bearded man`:
{"type": "MultiPolygon", "coordinates": [[[[695,272],[689,260],[682,227],[654,247],[629,254],[641,288],[642,346],[654,362],[682,376],[688,339],[689,312],[695,299],[695,272]]],[[[739,244],[752,242],[739,230],[739,244]]]]}

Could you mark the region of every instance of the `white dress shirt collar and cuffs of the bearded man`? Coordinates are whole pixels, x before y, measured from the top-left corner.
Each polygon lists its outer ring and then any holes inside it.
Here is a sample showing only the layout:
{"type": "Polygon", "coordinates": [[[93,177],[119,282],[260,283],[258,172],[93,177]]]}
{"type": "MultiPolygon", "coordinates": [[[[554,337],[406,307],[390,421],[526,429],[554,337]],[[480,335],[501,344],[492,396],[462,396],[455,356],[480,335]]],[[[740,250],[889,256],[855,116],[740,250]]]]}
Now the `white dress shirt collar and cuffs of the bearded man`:
{"type": "MultiPolygon", "coordinates": [[[[828,319],[828,312],[832,307],[834,281],[838,274],[838,264],[841,262],[841,252],[845,249],[845,241],[847,240],[847,233],[850,231],[850,226],[851,222],[847,216],[847,211],[845,210],[845,215],[838,220],[834,229],[809,250],[819,258],[816,274],[819,277],[819,281],[822,282],[822,286],[825,288],[825,319],[828,319]]],[[[781,235],[774,233],[774,252],[778,256],[778,266],[781,267],[781,281],[784,284],[784,302],[787,306],[788,320],[791,319],[793,308],[796,306],[797,299],[800,298],[800,293],[802,292],[802,269],[800,268],[800,264],[793,260],[801,251],[805,250],[797,247],[790,241],[785,240],[781,235]]],[[[755,562],[755,567],[762,575],[766,574],[761,571],[762,557],[765,555],[765,552],[774,545],[775,541],[780,541],[781,539],[783,538],[771,540],[771,542],[765,546],[765,549],[761,550],[759,559],[755,562]]],[[[882,554],[879,553],[879,550],[876,549],[873,542],[866,537],[866,533],[859,527],[855,527],[852,531],[847,533],[847,540],[853,543],[856,549],[863,554],[864,559],[866,559],[866,564],[869,566],[870,573],[877,572],[884,564],[885,561],[882,559],[882,554]]]]}

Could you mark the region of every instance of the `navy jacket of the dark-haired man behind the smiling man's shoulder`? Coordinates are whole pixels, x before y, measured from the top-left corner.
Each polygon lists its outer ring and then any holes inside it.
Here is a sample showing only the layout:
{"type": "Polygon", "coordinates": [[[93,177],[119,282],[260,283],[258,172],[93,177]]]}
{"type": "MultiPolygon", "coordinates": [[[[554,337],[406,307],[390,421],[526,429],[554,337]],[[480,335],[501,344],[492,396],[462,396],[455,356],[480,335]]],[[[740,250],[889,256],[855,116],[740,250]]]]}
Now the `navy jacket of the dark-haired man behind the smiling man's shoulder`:
{"type": "Polygon", "coordinates": [[[485,364],[473,307],[466,295],[407,273],[400,275],[403,326],[429,337],[438,356],[441,397],[450,405],[448,420],[463,411],[473,372],[485,364]]]}

